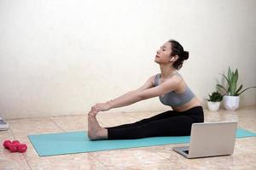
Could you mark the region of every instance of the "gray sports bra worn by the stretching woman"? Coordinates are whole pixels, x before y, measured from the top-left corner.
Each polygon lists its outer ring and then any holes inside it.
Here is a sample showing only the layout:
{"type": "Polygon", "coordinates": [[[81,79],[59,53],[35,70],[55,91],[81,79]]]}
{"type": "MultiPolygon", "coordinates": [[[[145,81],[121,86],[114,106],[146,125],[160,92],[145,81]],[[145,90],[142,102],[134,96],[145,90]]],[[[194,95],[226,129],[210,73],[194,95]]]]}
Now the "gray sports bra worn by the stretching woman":
{"type": "MultiPolygon", "coordinates": [[[[175,73],[181,77],[181,75],[177,72],[175,73]]],[[[158,86],[160,84],[160,73],[154,77],[154,86],[158,86]]],[[[195,97],[195,94],[190,90],[190,88],[186,85],[186,89],[183,94],[176,94],[175,92],[169,92],[167,94],[159,96],[160,102],[164,105],[170,105],[171,107],[180,106],[188,103],[191,99],[195,97]]]]}

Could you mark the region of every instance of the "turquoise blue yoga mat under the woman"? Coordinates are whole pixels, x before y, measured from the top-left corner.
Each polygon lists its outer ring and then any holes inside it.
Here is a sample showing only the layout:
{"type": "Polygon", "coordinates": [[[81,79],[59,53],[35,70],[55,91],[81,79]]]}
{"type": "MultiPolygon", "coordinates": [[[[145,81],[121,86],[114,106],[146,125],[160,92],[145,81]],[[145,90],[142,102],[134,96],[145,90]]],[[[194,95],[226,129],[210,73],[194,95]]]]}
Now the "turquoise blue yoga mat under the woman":
{"type": "MultiPolygon", "coordinates": [[[[256,133],[242,128],[236,130],[236,138],[252,137],[256,133]]],[[[100,150],[118,150],[163,144],[189,143],[190,136],[154,137],[145,139],[95,140],[87,137],[87,132],[48,133],[28,135],[39,156],[56,156],[100,150]]]]}

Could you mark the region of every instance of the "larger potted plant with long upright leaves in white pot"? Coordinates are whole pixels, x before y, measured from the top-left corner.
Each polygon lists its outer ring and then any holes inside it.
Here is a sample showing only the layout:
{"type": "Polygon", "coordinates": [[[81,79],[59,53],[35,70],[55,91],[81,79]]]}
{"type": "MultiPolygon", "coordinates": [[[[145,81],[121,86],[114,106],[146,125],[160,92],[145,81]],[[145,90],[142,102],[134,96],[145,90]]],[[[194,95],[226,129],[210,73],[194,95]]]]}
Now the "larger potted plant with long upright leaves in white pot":
{"type": "Polygon", "coordinates": [[[222,74],[225,80],[228,82],[228,87],[224,88],[224,86],[217,84],[218,88],[224,90],[224,108],[228,111],[235,111],[239,107],[239,95],[245,92],[249,88],[256,88],[256,87],[249,87],[245,89],[242,88],[242,84],[237,88],[237,80],[238,80],[238,71],[231,71],[229,67],[228,75],[225,76],[222,74]]]}

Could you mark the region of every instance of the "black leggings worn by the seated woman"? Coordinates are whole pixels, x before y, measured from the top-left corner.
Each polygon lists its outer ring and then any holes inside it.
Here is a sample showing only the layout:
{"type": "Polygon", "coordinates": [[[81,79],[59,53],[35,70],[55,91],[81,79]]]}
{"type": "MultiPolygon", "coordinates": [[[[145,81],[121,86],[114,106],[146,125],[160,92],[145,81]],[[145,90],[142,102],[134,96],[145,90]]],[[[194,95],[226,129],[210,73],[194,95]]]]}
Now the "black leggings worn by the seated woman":
{"type": "Polygon", "coordinates": [[[106,127],[108,139],[141,139],[156,136],[189,136],[191,125],[204,122],[201,106],[188,111],[166,111],[139,122],[117,127],[106,127]]]}

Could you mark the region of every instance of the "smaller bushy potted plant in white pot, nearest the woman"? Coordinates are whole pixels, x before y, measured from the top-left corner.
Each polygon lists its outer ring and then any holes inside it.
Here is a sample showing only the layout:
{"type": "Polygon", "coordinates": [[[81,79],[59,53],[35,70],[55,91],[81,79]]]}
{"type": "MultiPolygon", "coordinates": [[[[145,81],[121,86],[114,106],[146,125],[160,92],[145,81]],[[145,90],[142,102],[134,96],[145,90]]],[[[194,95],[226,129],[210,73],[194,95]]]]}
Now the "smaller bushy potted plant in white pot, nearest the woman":
{"type": "Polygon", "coordinates": [[[208,109],[210,111],[218,111],[220,102],[223,99],[223,96],[221,94],[218,93],[218,91],[216,92],[212,92],[212,94],[208,94],[209,95],[209,99],[207,99],[207,105],[208,105],[208,109]]]}

